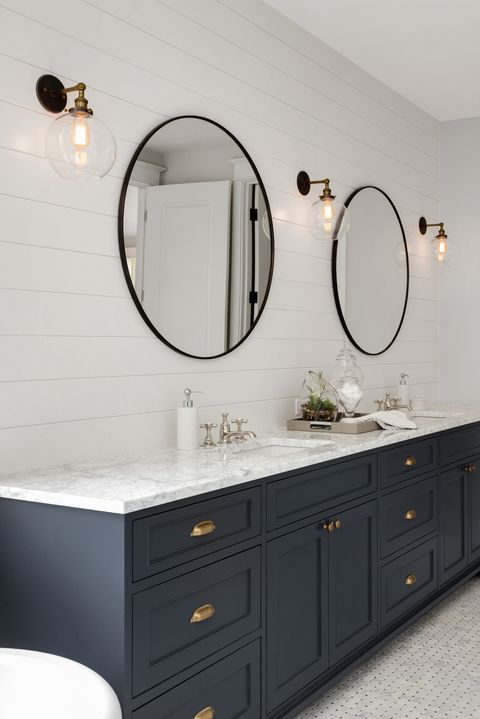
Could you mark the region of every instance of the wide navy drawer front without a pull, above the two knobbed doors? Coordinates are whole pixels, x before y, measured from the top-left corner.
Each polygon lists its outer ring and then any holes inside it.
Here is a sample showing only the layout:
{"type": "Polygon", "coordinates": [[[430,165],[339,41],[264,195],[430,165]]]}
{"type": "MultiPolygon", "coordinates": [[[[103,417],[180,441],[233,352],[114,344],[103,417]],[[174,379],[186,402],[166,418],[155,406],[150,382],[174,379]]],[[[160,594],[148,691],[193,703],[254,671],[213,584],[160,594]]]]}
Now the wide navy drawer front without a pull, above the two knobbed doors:
{"type": "Polygon", "coordinates": [[[376,489],[376,455],[270,482],[267,486],[267,527],[282,527],[376,489]]]}

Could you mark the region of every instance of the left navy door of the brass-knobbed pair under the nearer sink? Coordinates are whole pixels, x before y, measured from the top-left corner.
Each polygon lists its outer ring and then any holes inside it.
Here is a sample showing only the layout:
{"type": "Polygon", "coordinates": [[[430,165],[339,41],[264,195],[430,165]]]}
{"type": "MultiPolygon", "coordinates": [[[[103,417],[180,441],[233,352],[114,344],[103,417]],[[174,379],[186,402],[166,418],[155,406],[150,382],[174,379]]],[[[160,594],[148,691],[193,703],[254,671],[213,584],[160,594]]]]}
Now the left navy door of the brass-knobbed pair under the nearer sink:
{"type": "Polygon", "coordinates": [[[316,523],[267,545],[267,708],[328,667],[328,534],[316,523]]]}

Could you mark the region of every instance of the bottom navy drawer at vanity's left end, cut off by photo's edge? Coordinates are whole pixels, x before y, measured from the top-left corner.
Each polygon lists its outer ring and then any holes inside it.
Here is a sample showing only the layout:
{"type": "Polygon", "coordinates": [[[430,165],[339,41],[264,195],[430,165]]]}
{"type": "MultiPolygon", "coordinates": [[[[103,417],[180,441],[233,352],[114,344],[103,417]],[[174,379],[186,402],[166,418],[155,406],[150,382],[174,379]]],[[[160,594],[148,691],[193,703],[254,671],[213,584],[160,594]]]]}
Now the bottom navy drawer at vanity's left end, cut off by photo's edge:
{"type": "Polygon", "coordinates": [[[231,654],[133,712],[133,719],[259,719],[260,642],[231,654]]]}

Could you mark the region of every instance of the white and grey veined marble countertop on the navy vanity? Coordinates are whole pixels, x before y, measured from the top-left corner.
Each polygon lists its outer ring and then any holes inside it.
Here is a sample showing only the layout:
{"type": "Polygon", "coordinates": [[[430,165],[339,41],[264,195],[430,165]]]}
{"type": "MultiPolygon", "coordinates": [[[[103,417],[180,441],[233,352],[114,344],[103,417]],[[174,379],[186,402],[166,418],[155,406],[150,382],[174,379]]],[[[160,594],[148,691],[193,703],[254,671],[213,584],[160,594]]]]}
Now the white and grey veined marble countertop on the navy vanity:
{"type": "Polygon", "coordinates": [[[446,414],[444,418],[415,417],[415,430],[360,435],[279,430],[242,445],[244,449],[263,447],[260,452],[246,453],[235,445],[209,450],[162,449],[0,475],[0,497],[127,514],[480,422],[480,408],[446,414]],[[313,441],[322,444],[311,446],[313,441]],[[285,450],[288,454],[278,449],[279,456],[268,456],[266,448],[272,444],[292,449],[285,450]]]}

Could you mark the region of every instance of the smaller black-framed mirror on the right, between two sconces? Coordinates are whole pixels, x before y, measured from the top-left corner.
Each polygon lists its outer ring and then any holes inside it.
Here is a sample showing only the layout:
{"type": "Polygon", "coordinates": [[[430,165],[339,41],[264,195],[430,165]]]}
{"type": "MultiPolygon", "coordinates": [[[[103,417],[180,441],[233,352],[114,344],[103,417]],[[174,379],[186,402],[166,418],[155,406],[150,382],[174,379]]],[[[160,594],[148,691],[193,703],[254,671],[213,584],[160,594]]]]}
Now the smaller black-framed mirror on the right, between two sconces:
{"type": "Polygon", "coordinates": [[[350,341],[370,355],[395,341],[408,300],[408,250],[403,226],[388,195],[361,187],[345,205],[348,234],[333,244],[333,291],[350,341]]]}

